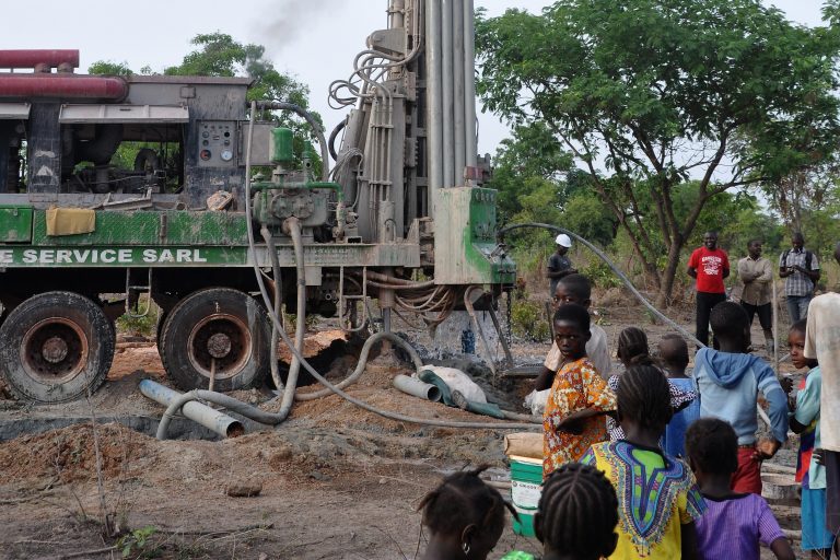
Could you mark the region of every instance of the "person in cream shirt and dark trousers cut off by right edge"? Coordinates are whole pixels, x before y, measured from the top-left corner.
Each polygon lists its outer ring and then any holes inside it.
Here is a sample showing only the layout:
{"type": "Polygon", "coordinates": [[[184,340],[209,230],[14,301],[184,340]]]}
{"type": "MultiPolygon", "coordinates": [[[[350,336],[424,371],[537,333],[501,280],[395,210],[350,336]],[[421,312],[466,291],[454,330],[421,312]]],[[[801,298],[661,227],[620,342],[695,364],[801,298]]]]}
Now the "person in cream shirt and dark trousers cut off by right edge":
{"type": "MultiPolygon", "coordinates": [[[[840,243],[835,247],[840,264],[840,243]]],[[[805,332],[805,357],[816,358],[822,372],[819,401],[822,463],[826,467],[826,528],[840,533],[840,293],[810,301],[805,332]]],[[[835,540],[835,552],[840,546],[835,540]]]]}

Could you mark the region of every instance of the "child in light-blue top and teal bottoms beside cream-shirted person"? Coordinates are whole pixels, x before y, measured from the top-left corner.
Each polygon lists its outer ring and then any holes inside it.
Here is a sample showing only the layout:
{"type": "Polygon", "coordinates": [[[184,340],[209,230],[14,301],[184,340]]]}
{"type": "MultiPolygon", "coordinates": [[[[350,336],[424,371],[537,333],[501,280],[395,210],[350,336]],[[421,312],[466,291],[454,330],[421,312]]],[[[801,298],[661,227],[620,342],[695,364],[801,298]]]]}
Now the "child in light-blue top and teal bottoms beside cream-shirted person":
{"type": "Polygon", "coordinates": [[[806,324],[806,319],[794,323],[788,335],[793,365],[810,369],[796,393],[791,430],[800,434],[796,481],[802,482],[802,548],[810,550],[810,558],[816,560],[831,557],[833,536],[826,528],[826,468],[814,457],[814,450],[820,446],[819,397],[822,373],[816,360],[805,358],[806,324]]]}

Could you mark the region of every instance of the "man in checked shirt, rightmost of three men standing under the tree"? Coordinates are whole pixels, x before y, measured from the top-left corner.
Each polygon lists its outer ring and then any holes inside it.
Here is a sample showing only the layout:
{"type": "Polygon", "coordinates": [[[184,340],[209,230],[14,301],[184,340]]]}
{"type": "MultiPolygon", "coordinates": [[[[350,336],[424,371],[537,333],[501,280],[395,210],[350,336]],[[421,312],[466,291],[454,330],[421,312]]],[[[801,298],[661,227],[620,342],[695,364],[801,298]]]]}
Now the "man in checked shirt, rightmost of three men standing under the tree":
{"type": "Polygon", "coordinates": [[[796,232],[791,237],[792,248],[779,257],[779,276],[784,278],[784,296],[791,324],[808,316],[808,304],[819,280],[817,256],[805,248],[805,237],[796,232]]]}

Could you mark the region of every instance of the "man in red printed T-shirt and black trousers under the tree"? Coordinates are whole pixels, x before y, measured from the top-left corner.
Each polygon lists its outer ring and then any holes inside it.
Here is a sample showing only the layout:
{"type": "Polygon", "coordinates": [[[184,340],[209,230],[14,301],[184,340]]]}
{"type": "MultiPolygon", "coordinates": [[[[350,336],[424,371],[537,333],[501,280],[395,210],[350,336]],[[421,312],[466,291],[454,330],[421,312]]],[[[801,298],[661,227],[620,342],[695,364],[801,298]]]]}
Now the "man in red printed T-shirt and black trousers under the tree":
{"type": "Polygon", "coordinates": [[[709,314],[712,307],[726,301],[723,279],[730,276],[730,258],[726,252],[718,246],[715,232],[705,232],[703,246],[691,253],[691,258],[688,259],[688,276],[697,279],[696,336],[708,346],[709,314]]]}

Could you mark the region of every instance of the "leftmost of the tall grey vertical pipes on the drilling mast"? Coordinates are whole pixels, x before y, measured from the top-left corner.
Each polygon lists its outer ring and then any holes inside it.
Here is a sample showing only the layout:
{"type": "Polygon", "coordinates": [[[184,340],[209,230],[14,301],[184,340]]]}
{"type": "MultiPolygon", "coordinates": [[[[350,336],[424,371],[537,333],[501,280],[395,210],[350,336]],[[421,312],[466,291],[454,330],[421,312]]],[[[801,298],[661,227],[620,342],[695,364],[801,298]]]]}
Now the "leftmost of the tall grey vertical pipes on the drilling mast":
{"type": "Polygon", "coordinates": [[[425,95],[429,187],[427,205],[429,215],[434,218],[434,198],[443,184],[443,100],[441,91],[441,2],[429,2],[425,10],[425,95]]]}

